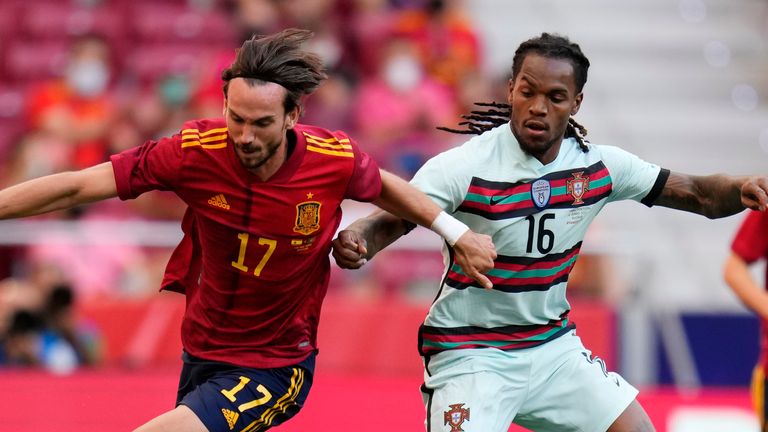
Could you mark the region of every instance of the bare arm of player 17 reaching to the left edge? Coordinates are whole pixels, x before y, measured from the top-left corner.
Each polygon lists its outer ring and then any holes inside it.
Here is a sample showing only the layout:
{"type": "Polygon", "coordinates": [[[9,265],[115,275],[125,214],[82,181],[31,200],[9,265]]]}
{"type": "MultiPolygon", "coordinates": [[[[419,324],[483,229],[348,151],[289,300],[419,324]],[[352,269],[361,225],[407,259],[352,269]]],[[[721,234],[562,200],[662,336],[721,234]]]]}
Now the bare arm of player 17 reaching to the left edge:
{"type": "Polygon", "coordinates": [[[112,163],[28,180],[0,191],[0,219],[63,210],[117,196],[112,163]]]}

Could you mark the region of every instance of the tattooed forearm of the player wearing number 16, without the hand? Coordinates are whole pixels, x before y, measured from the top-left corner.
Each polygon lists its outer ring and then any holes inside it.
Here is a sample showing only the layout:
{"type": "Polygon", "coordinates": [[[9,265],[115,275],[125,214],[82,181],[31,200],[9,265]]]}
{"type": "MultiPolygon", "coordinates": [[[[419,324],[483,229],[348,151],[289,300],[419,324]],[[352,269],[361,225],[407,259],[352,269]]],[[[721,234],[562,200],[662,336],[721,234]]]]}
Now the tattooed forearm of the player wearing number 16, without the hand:
{"type": "Polygon", "coordinates": [[[747,179],[723,174],[691,176],[672,173],[654,204],[710,219],[730,216],[744,210],[741,186],[747,179]]]}

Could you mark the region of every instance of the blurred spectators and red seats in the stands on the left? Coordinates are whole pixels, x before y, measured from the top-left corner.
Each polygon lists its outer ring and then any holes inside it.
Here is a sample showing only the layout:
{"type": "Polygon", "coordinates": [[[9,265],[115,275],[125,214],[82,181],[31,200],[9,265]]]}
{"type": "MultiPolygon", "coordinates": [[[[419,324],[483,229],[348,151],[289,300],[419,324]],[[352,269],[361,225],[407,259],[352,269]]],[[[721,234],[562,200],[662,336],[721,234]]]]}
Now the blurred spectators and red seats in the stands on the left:
{"type": "MultiPolygon", "coordinates": [[[[84,168],[186,120],[221,116],[220,74],[235,49],[285,27],[314,31],[310,48],[330,77],[302,121],[347,131],[403,177],[457,142],[435,126],[492,98],[476,29],[455,0],[3,0],[0,185],[84,168]]],[[[182,212],[158,193],[35,221],[175,221],[182,212]]],[[[170,244],[62,226],[45,241],[0,249],[3,363],[97,363],[97,329],[73,322],[74,299],[158,287],[170,244]]]]}

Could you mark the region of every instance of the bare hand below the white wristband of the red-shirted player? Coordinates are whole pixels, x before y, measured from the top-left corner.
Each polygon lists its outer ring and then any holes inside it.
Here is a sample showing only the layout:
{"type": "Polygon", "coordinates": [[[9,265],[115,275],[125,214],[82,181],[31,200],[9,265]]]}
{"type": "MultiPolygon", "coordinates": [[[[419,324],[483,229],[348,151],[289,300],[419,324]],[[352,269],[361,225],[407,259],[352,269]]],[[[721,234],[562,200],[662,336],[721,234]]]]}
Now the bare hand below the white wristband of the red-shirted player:
{"type": "Polygon", "coordinates": [[[496,259],[496,246],[490,236],[469,230],[459,237],[453,249],[456,264],[461,266],[464,274],[486,289],[493,288],[493,283],[485,276],[493,269],[496,259]]]}

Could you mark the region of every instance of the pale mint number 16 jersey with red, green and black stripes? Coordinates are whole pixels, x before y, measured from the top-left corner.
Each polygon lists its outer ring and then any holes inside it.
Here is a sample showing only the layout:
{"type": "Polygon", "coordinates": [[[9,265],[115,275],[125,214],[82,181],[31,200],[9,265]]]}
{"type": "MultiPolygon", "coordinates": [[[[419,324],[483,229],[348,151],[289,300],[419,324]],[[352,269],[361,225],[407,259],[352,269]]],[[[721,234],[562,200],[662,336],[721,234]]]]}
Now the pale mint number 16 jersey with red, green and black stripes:
{"type": "Polygon", "coordinates": [[[423,355],[451,349],[514,350],[574,328],[566,287],[587,227],[610,201],[652,205],[669,171],[618,147],[563,140],[542,165],[524,153],[509,124],[430,159],[411,183],[473,231],[490,235],[498,257],[486,290],[443,247],[446,271],[419,330],[423,355]]]}

